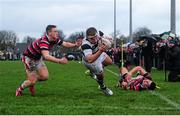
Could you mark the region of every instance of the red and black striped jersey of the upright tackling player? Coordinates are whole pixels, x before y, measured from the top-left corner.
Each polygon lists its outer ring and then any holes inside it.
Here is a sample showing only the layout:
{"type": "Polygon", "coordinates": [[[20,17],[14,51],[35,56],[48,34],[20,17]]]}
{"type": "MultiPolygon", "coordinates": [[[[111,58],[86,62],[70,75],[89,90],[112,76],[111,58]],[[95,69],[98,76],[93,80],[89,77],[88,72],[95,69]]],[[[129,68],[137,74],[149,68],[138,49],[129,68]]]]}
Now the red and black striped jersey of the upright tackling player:
{"type": "Polygon", "coordinates": [[[49,41],[47,35],[33,41],[30,45],[28,45],[27,49],[24,51],[23,55],[28,56],[31,59],[39,60],[41,59],[41,51],[42,50],[50,50],[55,44],[61,45],[63,40],[60,38],[56,41],[49,41]]]}

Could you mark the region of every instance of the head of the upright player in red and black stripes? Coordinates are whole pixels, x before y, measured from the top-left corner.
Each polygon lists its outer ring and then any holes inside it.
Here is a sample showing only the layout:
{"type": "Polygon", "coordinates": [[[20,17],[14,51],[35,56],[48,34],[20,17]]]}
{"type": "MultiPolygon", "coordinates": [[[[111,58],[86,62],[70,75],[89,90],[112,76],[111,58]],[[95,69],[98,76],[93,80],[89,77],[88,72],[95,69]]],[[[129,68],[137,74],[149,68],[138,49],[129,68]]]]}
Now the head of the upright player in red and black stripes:
{"type": "Polygon", "coordinates": [[[56,25],[48,25],[46,27],[46,34],[52,40],[56,40],[58,38],[58,31],[56,25]]]}

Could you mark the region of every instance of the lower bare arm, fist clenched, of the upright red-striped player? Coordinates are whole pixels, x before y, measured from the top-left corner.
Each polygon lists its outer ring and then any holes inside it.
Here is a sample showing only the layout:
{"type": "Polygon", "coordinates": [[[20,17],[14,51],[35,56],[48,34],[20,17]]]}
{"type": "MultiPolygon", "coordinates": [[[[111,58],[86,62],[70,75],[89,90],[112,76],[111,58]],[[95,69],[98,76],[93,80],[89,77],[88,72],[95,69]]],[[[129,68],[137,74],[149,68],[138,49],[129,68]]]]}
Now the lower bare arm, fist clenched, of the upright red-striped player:
{"type": "Polygon", "coordinates": [[[55,58],[51,55],[49,55],[49,51],[48,50],[42,50],[41,51],[42,56],[44,57],[45,60],[51,61],[51,62],[55,62],[55,63],[59,63],[59,64],[67,64],[68,60],[66,58],[55,58]]]}

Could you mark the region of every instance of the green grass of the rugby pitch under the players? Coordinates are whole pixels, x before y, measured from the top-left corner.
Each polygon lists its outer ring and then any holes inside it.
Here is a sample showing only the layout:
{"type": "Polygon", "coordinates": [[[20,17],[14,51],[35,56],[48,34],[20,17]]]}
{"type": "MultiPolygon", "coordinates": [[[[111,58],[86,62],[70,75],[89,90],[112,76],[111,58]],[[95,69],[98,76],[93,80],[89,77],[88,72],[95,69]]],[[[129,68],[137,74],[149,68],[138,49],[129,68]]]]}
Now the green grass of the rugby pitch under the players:
{"type": "MultiPolygon", "coordinates": [[[[115,88],[117,76],[105,71],[105,83],[114,92],[105,96],[97,83],[85,76],[85,68],[77,62],[58,65],[46,62],[49,80],[36,84],[36,95],[28,89],[22,97],[15,97],[15,90],[25,79],[24,66],[20,61],[0,62],[0,115],[4,114],[51,114],[51,115],[124,115],[124,114],[180,114],[180,84],[164,81],[164,72],[153,70],[152,75],[161,89],[130,91],[115,88]],[[173,103],[172,103],[173,102],[173,103]]],[[[115,66],[108,69],[118,73],[115,66]]]]}

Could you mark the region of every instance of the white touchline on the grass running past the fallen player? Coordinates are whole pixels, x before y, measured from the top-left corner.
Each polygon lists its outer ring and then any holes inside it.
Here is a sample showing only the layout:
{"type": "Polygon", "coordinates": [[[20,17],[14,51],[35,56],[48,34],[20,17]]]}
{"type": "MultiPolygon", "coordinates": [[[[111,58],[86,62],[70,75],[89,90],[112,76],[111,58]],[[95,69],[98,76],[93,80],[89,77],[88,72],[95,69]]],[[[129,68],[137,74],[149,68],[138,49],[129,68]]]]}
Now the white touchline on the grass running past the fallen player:
{"type": "MultiPolygon", "coordinates": [[[[109,70],[109,69],[107,69],[107,68],[106,68],[105,70],[107,70],[108,72],[110,72],[110,73],[112,73],[112,74],[114,74],[114,75],[116,75],[116,76],[119,77],[119,75],[118,75],[117,73],[115,73],[115,72],[113,72],[113,71],[111,71],[111,70],[109,70]]],[[[155,92],[155,91],[149,91],[149,92],[150,92],[151,94],[153,94],[153,95],[158,96],[161,100],[166,101],[169,105],[173,106],[173,107],[176,108],[177,110],[180,110],[180,104],[178,104],[178,103],[176,103],[176,102],[168,99],[167,97],[161,95],[161,94],[158,93],[158,92],[155,92]]]]}

